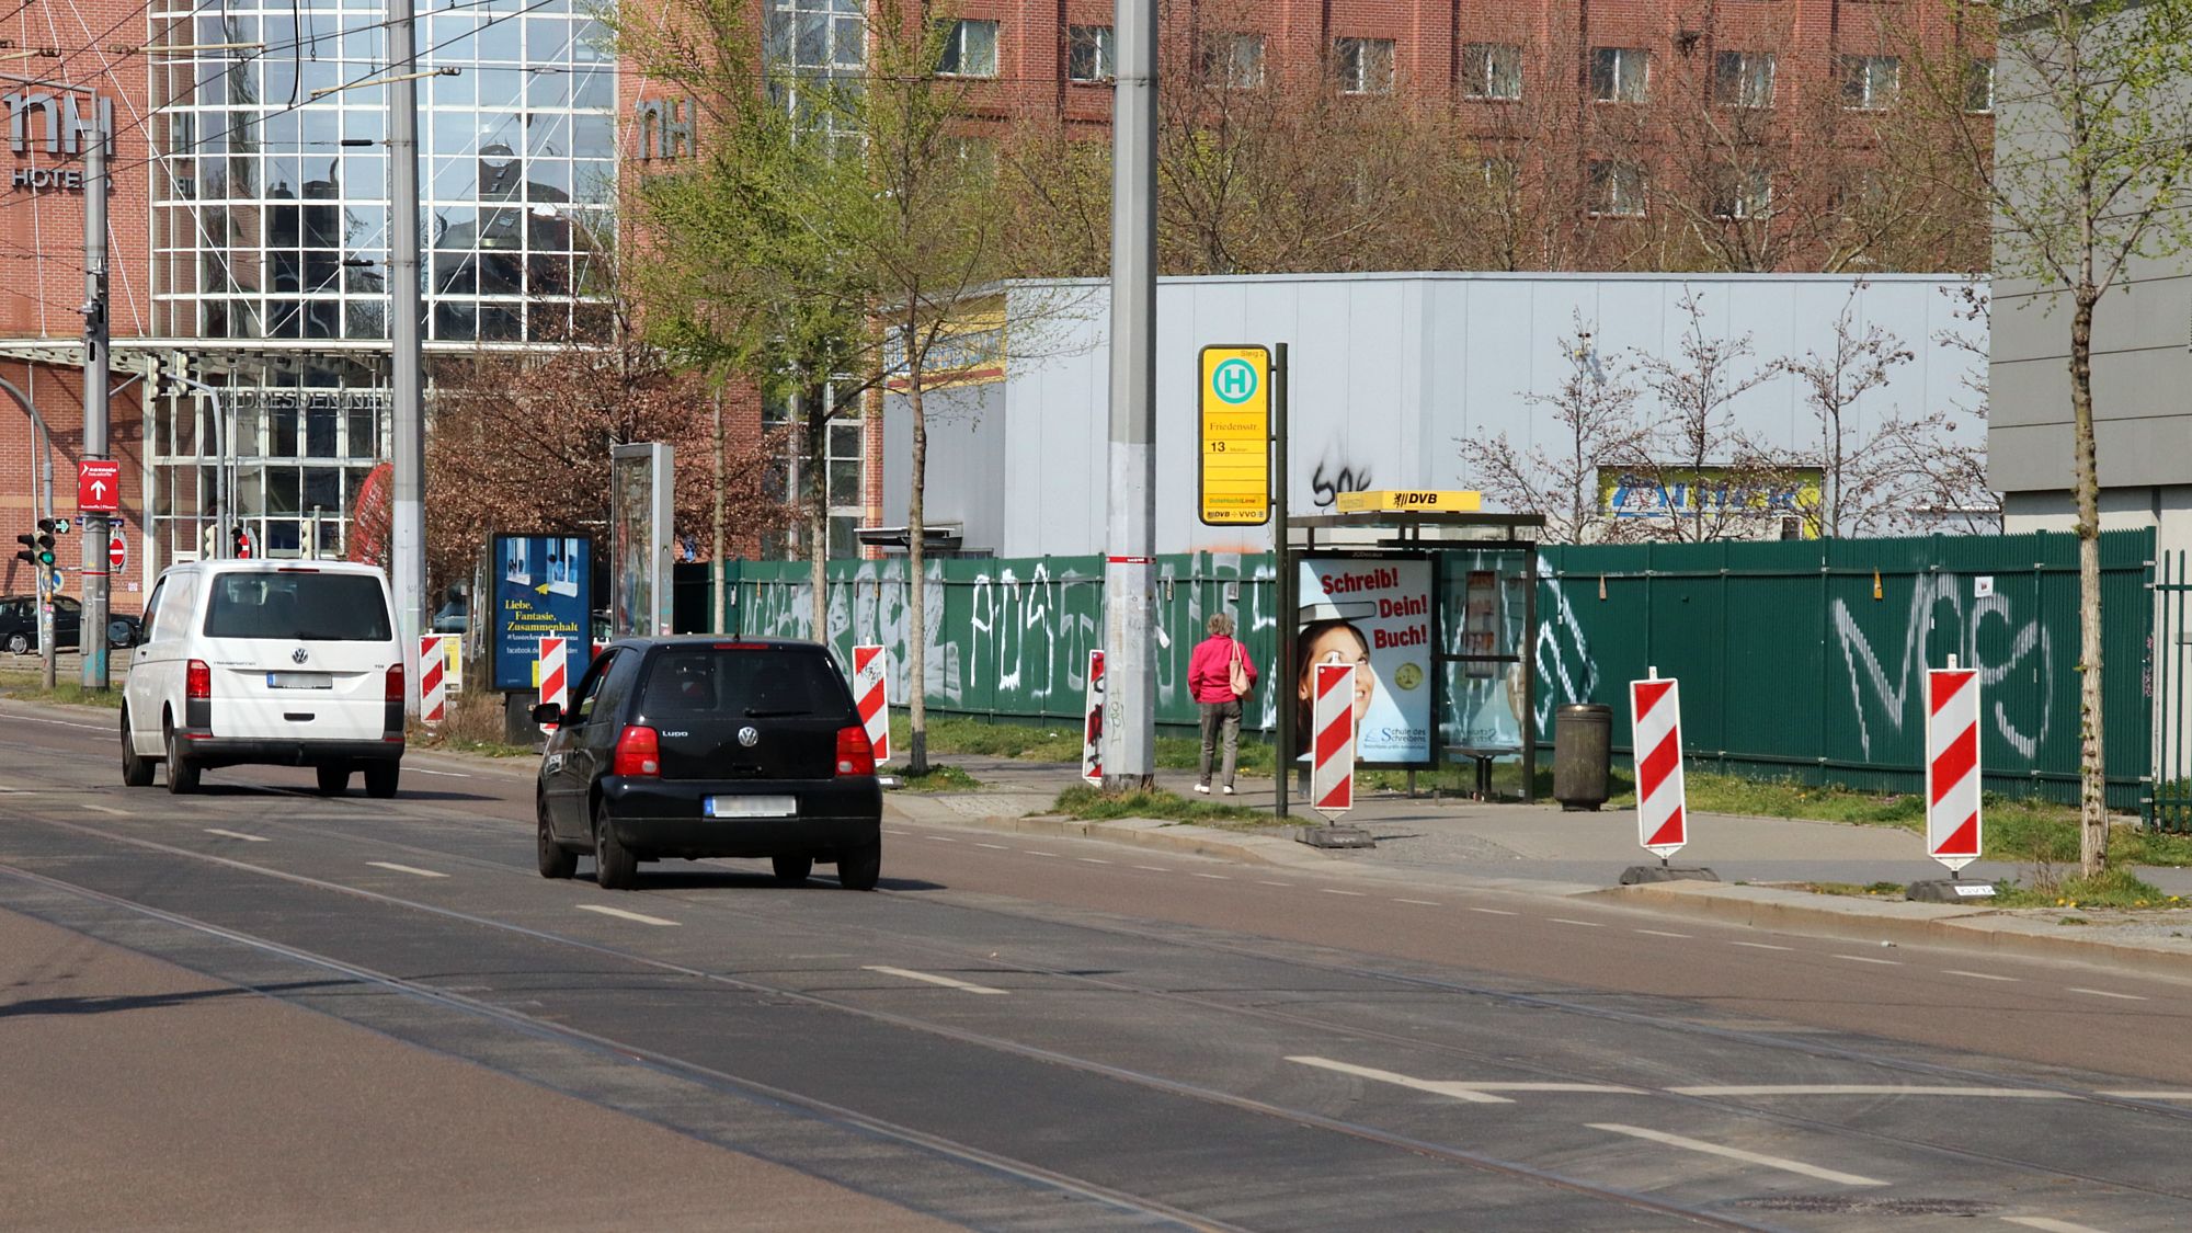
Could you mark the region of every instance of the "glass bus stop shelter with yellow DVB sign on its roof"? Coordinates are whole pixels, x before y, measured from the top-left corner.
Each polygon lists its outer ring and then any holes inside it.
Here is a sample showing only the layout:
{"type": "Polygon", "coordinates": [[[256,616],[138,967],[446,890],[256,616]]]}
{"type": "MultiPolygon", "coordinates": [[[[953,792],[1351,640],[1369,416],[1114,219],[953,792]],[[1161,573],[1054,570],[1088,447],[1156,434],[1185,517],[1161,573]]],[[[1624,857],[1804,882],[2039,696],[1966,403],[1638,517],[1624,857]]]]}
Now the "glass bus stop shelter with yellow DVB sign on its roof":
{"type": "MultiPolygon", "coordinates": [[[[1493,763],[1519,757],[1521,796],[1534,801],[1537,542],[1545,520],[1420,507],[1473,498],[1342,494],[1342,509],[1372,507],[1287,518],[1278,608],[1293,621],[1280,630],[1282,663],[1306,682],[1313,663],[1361,656],[1357,766],[1407,770],[1414,790],[1418,770],[1469,761],[1475,794],[1488,799],[1493,763]]],[[[1300,687],[1295,695],[1306,693],[1300,687]]],[[[1280,744],[1300,755],[1302,733],[1306,715],[1282,704],[1280,744]]],[[[1282,781],[1282,807],[1285,790],[1282,781]]]]}

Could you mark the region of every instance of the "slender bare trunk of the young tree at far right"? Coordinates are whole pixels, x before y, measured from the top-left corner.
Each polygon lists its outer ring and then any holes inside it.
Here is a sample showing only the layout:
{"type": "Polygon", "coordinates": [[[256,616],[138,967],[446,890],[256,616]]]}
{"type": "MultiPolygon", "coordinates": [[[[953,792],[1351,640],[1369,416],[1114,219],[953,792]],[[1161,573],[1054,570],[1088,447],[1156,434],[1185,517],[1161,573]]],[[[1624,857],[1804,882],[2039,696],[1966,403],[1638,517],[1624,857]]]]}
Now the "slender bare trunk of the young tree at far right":
{"type": "Polygon", "coordinates": [[[2069,410],[2078,502],[2078,864],[2087,878],[2109,864],[2107,761],[2100,711],[2100,461],[2093,448],[2093,301],[2076,290],[2069,318],[2069,410]]]}

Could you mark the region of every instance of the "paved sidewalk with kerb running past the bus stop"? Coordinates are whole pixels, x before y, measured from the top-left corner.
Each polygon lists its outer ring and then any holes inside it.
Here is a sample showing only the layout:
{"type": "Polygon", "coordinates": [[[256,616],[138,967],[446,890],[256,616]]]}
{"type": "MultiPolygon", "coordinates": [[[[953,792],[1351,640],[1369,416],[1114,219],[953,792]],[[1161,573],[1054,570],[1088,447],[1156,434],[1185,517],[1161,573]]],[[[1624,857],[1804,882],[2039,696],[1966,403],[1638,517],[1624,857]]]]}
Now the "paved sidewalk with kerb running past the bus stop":
{"type": "MultiPolygon", "coordinates": [[[[1681,864],[1705,864],[1721,882],[1620,886],[1631,864],[1655,862],[1640,845],[1633,810],[1561,812],[1559,805],[1357,796],[1348,823],[1372,834],[1372,849],[1326,851],[1298,842],[1287,827],[1243,827],[1122,818],[1087,823],[1050,814],[1057,794],[1078,783],[1070,766],[951,757],[982,781],[980,792],[888,792],[886,816],[1019,834],[1078,836],[1201,853],[1394,884],[1429,884],[1521,895],[1589,895],[1622,906],[1712,917],[1786,932],[1863,941],[1982,946],[2036,959],[2071,959],[2192,979],[2192,906],[2111,913],[2078,908],[2087,924],[2065,924],[2065,908],[1986,908],[1907,904],[1885,897],[1815,895],[1776,882],[1916,882],[1946,871],[1925,856],[1918,834],[1896,827],[1697,814],[1681,864]]],[[[1195,777],[1160,772],[1162,788],[1186,792],[1195,777]]],[[[1271,781],[1243,779],[1217,803],[1271,810],[1271,781]]],[[[1315,814],[1295,821],[1317,821],[1315,814]]],[[[2139,867],[2164,893],[2192,897],[2192,871],[2139,867]]],[[[1979,862],[1975,878],[2021,878],[2030,869],[1979,862]]],[[[2060,871],[2058,871],[2060,873],[2060,871]]]]}

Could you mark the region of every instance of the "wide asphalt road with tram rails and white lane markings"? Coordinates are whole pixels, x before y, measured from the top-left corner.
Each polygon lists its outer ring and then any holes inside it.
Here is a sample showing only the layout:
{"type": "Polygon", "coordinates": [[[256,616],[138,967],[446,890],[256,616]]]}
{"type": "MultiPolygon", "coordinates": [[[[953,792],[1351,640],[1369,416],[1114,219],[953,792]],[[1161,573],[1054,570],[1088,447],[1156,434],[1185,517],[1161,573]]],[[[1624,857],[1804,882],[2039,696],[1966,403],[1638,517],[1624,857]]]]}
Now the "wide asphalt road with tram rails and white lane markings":
{"type": "Polygon", "coordinates": [[[899,823],[620,895],[107,724],[0,706],[0,1226],[2192,1224],[2185,983],[899,823]]]}

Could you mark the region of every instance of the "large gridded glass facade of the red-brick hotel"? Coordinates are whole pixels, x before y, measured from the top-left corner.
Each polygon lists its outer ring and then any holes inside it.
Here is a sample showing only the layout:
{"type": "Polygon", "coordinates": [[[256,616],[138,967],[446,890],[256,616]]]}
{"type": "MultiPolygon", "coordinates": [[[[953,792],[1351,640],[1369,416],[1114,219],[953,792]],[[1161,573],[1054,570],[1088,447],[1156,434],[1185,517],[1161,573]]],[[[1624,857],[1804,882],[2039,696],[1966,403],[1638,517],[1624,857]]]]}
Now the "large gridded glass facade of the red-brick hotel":
{"type": "MultiPolygon", "coordinates": [[[[340,553],[388,456],[381,0],[153,7],[153,333],[221,388],[151,406],[160,559],[202,548],[224,437],[267,555],[340,553]],[[324,92],[324,94],[322,94],[324,92]]],[[[430,351],[559,342],[612,246],[616,59],[583,0],[419,13],[421,274],[430,351]]]]}

